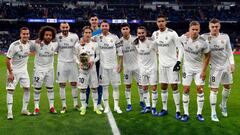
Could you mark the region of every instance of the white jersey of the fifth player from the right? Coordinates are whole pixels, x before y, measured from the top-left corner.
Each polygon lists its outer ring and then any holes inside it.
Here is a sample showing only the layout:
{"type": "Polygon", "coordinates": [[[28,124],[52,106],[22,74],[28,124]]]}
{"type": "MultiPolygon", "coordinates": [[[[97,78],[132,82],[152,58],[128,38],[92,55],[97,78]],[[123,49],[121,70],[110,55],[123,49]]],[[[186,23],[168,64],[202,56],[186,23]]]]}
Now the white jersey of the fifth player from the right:
{"type": "Polygon", "coordinates": [[[132,45],[136,38],[136,36],[132,35],[130,35],[129,39],[125,39],[124,37],[120,38],[120,43],[122,44],[124,69],[138,69],[138,53],[132,45]]]}

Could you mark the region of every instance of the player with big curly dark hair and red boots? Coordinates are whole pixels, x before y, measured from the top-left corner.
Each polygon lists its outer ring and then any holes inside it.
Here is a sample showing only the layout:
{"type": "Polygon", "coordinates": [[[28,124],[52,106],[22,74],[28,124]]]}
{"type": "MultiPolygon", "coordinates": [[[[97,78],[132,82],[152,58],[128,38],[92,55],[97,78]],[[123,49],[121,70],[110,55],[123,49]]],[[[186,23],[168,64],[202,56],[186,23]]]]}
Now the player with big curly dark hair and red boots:
{"type": "Polygon", "coordinates": [[[56,30],[51,26],[43,26],[39,31],[40,43],[32,44],[31,50],[35,54],[34,59],[34,73],[33,73],[33,87],[34,87],[34,105],[33,114],[38,115],[40,93],[43,83],[45,83],[47,92],[50,113],[56,114],[54,109],[54,54],[57,49],[57,42],[52,42],[55,39],[56,30]]]}

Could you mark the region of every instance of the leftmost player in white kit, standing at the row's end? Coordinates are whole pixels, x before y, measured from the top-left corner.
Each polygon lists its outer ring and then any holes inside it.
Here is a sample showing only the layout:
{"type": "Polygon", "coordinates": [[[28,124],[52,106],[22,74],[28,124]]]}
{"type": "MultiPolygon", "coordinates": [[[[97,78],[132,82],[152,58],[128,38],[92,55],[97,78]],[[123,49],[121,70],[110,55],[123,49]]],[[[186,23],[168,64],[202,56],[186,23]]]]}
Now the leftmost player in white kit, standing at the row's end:
{"type": "Polygon", "coordinates": [[[27,27],[20,29],[20,39],[13,42],[7,52],[7,75],[8,80],[6,84],[7,89],[7,119],[13,119],[12,105],[14,90],[20,82],[20,86],[24,90],[22,114],[31,115],[27,110],[30,100],[30,79],[27,70],[28,57],[30,54],[31,42],[29,41],[30,32],[27,27]]]}

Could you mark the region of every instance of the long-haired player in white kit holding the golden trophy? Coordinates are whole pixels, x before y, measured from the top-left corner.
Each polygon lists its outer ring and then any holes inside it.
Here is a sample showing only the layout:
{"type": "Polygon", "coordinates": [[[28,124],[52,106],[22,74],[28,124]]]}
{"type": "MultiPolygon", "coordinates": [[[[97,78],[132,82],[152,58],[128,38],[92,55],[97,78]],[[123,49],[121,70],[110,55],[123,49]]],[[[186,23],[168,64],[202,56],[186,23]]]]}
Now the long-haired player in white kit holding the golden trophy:
{"type": "MultiPolygon", "coordinates": [[[[83,27],[83,37],[81,39],[82,42],[79,42],[75,45],[76,48],[76,56],[77,56],[77,63],[79,64],[79,77],[78,77],[78,87],[80,91],[80,101],[82,104],[81,107],[81,115],[85,115],[86,113],[86,89],[89,86],[92,89],[92,98],[93,98],[93,105],[94,111],[97,114],[102,114],[102,112],[97,107],[98,103],[98,78],[97,78],[97,71],[95,63],[99,60],[99,50],[97,42],[91,41],[92,32],[90,26],[83,27]],[[80,55],[87,54],[88,61],[87,67],[84,68],[83,63],[81,63],[80,55]],[[96,55],[96,57],[95,57],[96,55]]],[[[90,93],[89,93],[90,94],[90,93]]]]}

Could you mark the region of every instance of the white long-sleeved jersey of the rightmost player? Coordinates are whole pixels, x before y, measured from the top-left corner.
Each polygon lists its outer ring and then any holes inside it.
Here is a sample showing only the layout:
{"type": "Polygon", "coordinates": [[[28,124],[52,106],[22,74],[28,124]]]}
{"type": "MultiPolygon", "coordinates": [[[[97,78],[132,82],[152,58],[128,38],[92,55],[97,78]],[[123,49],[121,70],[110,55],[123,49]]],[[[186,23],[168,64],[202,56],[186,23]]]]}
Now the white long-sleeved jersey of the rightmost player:
{"type": "Polygon", "coordinates": [[[227,68],[229,64],[234,64],[231,43],[227,34],[220,33],[215,37],[206,33],[202,37],[210,44],[211,68],[221,70],[227,68]]]}

